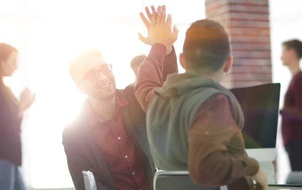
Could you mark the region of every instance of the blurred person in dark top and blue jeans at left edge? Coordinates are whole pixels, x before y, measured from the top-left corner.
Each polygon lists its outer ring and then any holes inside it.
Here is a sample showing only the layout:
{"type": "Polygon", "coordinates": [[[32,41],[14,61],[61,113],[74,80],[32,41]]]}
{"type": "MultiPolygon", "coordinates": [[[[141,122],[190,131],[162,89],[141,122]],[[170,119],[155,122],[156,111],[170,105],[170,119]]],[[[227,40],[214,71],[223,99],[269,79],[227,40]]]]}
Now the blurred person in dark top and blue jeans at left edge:
{"type": "Polygon", "coordinates": [[[18,101],[11,89],[4,84],[17,69],[18,51],[0,43],[0,189],[25,190],[18,169],[21,166],[21,121],[24,111],[35,101],[35,94],[26,88],[18,101]]]}

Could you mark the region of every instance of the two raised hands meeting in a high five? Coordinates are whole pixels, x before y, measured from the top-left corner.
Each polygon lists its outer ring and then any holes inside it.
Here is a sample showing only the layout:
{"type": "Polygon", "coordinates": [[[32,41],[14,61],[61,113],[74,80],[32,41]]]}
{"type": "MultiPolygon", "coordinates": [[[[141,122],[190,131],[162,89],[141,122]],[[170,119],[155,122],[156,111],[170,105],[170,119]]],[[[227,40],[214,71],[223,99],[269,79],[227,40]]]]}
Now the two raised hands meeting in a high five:
{"type": "Polygon", "coordinates": [[[139,13],[141,20],[147,28],[148,36],[143,37],[138,33],[138,38],[147,45],[154,43],[165,45],[167,47],[166,54],[169,54],[172,51],[173,43],[177,40],[178,30],[176,26],[174,26],[172,32],[172,17],[171,15],[166,17],[166,6],[159,6],[157,11],[154,6],[151,6],[151,9],[152,14],[147,7],[145,8],[149,20],[145,18],[143,13],[139,13]]]}

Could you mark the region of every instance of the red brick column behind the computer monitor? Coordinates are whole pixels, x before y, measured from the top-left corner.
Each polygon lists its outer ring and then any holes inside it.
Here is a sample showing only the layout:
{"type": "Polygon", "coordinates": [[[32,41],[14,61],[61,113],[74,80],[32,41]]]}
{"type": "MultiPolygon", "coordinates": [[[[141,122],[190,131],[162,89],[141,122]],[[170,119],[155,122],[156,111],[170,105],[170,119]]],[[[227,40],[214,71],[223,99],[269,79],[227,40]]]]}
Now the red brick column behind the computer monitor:
{"type": "Polygon", "coordinates": [[[268,0],[205,0],[206,18],[230,35],[234,65],[222,84],[227,88],[271,83],[268,0]]]}

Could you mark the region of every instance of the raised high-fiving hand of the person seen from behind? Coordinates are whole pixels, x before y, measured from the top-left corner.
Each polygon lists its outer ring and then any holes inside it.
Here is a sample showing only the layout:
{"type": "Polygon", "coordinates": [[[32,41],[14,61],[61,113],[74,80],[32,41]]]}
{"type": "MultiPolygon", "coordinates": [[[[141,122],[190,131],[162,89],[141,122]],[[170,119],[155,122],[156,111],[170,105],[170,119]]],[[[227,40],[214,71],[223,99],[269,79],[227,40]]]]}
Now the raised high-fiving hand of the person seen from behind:
{"type": "Polygon", "coordinates": [[[172,17],[168,15],[166,19],[166,6],[159,6],[157,13],[153,11],[151,17],[151,26],[149,31],[149,38],[151,44],[161,43],[170,48],[177,40],[178,30],[176,26],[171,29],[172,17]]]}

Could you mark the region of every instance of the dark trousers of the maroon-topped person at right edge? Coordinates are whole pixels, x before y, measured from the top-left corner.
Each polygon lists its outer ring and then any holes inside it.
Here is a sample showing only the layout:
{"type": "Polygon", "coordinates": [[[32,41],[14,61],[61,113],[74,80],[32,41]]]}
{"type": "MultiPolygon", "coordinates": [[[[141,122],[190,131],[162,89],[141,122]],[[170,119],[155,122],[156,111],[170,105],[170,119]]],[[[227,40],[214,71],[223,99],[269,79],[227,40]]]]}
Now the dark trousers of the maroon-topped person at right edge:
{"type": "Polygon", "coordinates": [[[302,139],[290,141],[285,145],[291,171],[302,171],[302,139]]]}

